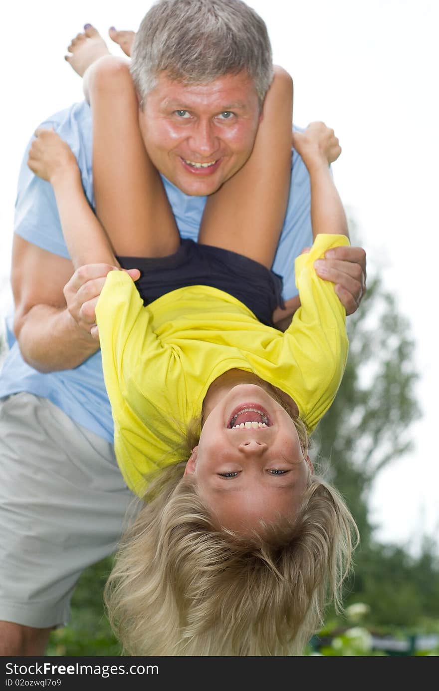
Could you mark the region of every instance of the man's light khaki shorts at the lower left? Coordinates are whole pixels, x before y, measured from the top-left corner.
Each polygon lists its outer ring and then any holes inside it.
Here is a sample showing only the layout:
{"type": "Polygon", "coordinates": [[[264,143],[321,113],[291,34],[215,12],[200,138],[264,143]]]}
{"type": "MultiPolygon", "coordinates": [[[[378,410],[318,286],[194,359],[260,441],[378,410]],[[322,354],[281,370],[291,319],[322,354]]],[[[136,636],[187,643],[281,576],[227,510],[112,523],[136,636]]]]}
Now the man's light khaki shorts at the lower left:
{"type": "Polygon", "coordinates": [[[48,399],[0,401],[0,620],[66,623],[77,579],[114,550],[132,501],[112,444],[48,399]]]}

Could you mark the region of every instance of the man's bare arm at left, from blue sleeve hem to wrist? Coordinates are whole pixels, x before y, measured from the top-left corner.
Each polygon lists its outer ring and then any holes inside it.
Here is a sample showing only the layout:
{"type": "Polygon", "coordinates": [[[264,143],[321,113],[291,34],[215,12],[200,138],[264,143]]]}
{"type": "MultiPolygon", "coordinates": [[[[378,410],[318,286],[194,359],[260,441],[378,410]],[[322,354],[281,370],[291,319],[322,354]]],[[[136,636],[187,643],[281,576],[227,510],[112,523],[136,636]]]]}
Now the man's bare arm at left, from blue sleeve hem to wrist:
{"type": "Polygon", "coordinates": [[[84,314],[82,308],[86,296],[70,294],[69,304],[64,297],[64,286],[72,273],[68,259],[15,235],[15,336],[24,359],[39,372],[75,368],[99,348],[90,333],[94,315],[84,314]]]}

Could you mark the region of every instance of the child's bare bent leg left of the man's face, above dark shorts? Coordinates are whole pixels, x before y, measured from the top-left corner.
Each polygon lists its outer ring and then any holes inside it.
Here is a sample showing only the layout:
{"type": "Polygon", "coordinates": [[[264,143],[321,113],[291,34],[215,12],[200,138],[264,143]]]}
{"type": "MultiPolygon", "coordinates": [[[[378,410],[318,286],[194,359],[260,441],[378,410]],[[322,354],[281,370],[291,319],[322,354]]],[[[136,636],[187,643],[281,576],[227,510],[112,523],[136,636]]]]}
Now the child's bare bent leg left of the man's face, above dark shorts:
{"type": "Polygon", "coordinates": [[[156,169],[144,149],[138,100],[127,64],[100,58],[88,73],[93,111],[93,183],[96,213],[115,254],[166,256],[180,244],[156,169]]]}

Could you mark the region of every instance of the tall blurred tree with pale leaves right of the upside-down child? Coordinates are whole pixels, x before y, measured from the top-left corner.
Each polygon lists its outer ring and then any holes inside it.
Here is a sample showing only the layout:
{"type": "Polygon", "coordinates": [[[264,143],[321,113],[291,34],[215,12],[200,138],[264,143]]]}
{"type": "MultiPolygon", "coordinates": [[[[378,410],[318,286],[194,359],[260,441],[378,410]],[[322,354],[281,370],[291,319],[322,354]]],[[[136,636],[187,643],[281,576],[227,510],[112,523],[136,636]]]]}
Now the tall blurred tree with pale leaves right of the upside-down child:
{"type": "Polygon", "coordinates": [[[368,495],[380,470],[411,448],[409,426],[420,414],[409,324],[370,281],[360,309],[348,317],[350,348],[337,397],[319,423],[315,453],[348,500],[362,536],[371,540],[368,495]]]}

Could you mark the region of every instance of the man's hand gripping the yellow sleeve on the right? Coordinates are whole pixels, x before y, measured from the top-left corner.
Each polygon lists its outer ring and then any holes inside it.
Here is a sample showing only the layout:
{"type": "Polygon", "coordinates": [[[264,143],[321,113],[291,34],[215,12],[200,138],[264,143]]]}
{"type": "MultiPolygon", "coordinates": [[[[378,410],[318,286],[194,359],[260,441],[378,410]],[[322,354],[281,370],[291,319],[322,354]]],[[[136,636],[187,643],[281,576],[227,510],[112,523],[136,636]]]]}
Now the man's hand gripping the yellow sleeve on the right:
{"type": "Polygon", "coordinates": [[[335,284],[339,301],[346,314],[357,311],[366,292],[366,252],[362,247],[333,247],[324,259],[314,263],[316,273],[335,284]]]}

